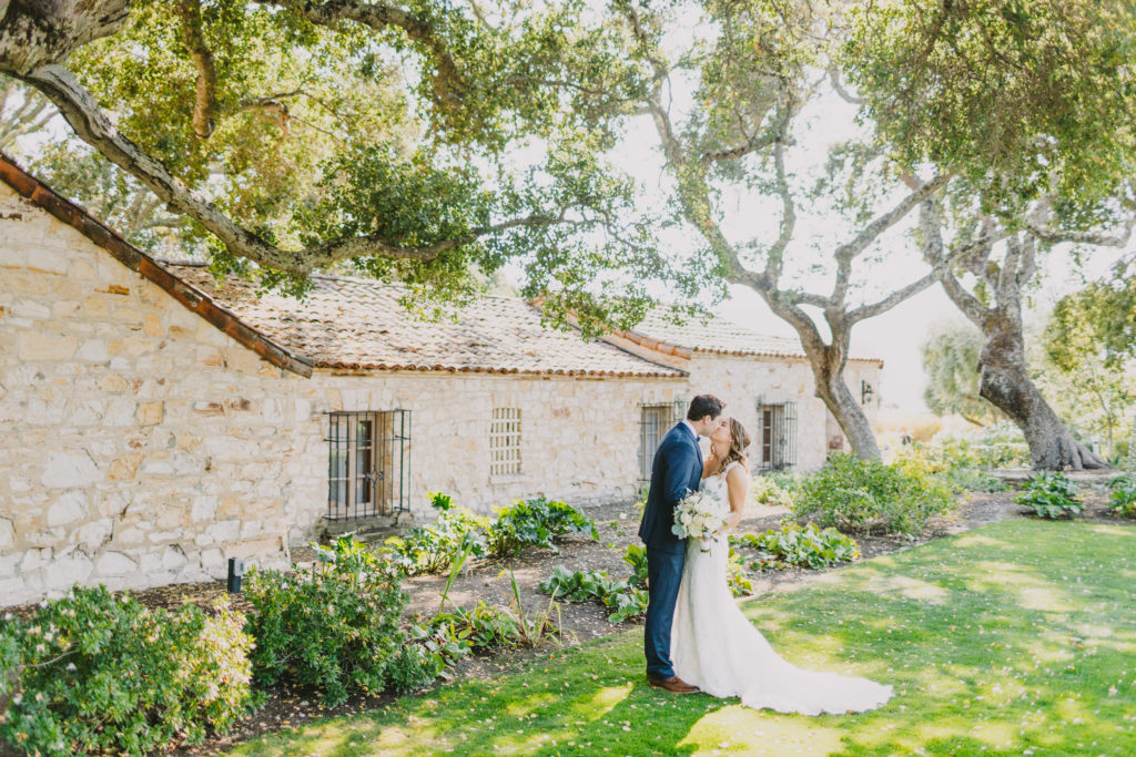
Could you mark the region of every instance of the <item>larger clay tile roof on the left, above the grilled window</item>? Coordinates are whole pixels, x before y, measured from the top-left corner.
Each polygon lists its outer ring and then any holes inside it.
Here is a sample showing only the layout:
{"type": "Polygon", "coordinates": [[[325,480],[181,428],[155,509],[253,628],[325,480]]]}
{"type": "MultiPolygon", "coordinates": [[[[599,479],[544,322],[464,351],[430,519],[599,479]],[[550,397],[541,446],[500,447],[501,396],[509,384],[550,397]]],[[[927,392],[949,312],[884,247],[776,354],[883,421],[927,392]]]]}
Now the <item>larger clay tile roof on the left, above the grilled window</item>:
{"type": "Polygon", "coordinates": [[[370,279],[314,276],[303,300],[256,294],[253,284],[226,279],[193,263],[166,268],[242,321],[320,368],[442,370],[568,376],[684,377],[579,331],[541,326],[524,300],[485,296],[453,318],[421,321],[399,303],[404,289],[370,279]]]}

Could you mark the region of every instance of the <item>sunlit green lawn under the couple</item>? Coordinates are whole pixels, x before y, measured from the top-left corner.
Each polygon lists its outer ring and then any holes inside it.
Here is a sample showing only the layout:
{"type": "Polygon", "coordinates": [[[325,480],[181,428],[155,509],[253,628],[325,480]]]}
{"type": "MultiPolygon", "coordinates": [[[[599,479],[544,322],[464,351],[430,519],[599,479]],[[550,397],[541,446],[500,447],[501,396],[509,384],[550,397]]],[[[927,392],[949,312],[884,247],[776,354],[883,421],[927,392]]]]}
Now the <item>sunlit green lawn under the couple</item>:
{"type": "Polygon", "coordinates": [[[786,658],[892,683],[804,717],[648,688],[642,630],[234,754],[1134,755],[1136,529],[1008,521],[743,607],[786,658]]]}

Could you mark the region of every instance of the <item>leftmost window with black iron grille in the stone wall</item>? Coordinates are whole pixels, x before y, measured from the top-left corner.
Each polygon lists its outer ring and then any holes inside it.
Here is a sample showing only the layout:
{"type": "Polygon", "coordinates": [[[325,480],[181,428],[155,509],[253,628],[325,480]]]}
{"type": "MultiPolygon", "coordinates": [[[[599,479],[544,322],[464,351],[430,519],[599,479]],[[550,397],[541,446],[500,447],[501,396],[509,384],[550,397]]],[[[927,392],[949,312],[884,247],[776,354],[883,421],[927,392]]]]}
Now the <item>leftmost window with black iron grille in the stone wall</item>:
{"type": "Polygon", "coordinates": [[[409,506],[410,411],[327,413],[327,519],[409,506]]]}

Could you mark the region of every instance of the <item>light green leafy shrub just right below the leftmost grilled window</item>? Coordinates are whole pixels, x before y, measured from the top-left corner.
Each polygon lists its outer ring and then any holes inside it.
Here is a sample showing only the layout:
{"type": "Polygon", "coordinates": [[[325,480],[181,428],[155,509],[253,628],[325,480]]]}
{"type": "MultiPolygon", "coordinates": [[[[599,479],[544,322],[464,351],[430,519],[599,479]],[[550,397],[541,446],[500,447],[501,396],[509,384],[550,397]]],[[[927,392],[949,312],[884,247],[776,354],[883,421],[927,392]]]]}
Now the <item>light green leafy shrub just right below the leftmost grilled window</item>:
{"type": "Polygon", "coordinates": [[[453,498],[445,494],[431,494],[429,499],[437,519],[391,537],[383,546],[407,575],[436,573],[461,560],[461,555],[483,557],[486,552],[487,518],[454,506],[453,498]]]}

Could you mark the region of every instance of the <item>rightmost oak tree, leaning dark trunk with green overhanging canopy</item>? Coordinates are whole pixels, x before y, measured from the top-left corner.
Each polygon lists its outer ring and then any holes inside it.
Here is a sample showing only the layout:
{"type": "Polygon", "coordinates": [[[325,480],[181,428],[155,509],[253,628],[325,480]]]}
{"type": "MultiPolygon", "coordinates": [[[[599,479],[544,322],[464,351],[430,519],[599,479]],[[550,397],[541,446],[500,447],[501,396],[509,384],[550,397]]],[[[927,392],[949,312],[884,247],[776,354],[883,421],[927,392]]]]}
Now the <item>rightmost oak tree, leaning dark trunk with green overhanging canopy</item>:
{"type": "Polygon", "coordinates": [[[1035,468],[1105,462],[1033,382],[1021,310],[1056,243],[1121,247],[1136,222],[1136,6],[1122,0],[897,0],[850,11],[847,70],[920,209],[925,256],[982,329],[980,394],[1035,468]],[[949,259],[957,262],[941,264],[949,259]]]}

